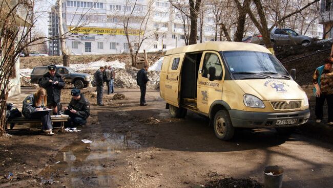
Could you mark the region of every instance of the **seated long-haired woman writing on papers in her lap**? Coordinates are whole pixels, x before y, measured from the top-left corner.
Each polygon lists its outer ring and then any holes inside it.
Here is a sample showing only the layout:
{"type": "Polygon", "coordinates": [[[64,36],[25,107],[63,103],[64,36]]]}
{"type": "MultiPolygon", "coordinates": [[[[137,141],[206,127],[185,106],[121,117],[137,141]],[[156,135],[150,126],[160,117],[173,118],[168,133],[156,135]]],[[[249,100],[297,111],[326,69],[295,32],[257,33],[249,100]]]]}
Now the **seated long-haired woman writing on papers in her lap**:
{"type": "Polygon", "coordinates": [[[50,111],[45,107],[46,104],[46,90],[40,88],[24,99],[22,114],[27,119],[40,119],[43,131],[48,135],[53,135],[50,111]]]}

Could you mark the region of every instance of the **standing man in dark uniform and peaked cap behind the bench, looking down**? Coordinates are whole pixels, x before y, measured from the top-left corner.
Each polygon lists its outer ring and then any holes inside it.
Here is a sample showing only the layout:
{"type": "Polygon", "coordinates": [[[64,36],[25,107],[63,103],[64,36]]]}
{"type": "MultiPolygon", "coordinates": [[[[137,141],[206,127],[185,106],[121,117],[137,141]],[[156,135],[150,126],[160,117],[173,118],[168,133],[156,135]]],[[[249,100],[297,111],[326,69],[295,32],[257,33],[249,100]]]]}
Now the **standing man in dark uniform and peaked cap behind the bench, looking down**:
{"type": "Polygon", "coordinates": [[[58,113],[58,106],[60,105],[61,89],[65,87],[65,82],[61,75],[56,73],[55,65],[49,65],[49,72],[43,75],[41,87],[47,91],[48,108],[53,108],[53,114],[58,113]]]}

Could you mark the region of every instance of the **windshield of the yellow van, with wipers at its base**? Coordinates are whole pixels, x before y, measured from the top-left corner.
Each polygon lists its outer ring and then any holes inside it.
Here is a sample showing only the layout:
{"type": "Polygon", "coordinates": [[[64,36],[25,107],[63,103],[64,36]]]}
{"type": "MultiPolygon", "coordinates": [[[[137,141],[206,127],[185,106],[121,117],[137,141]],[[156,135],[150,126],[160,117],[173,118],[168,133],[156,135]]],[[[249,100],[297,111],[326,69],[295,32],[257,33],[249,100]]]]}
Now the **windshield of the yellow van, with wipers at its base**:
{"type": "Polygon", "coordinates": [[[255,51],[227,51],[222,54],[235,79],[290,79],[272,54],[255,51]]]}

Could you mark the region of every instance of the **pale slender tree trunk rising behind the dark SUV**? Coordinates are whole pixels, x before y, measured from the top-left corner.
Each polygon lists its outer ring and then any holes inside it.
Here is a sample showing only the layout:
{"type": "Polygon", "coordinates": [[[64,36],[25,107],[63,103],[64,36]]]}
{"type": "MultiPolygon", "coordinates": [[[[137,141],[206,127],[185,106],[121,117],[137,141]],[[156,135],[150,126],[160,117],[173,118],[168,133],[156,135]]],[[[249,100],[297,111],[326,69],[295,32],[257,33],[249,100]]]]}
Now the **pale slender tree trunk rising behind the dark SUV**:
{"type": "Polygon", "coordinates": [[[66,38],[64,36],[64,21],[63,21],[63,0],[58,0],[58,19],[59,19],[59,35],[60,35],[60,45],[61,54],[63,54],[63,64],[64,66],[69,66],[70,55],[66,49],[66,38]]]}

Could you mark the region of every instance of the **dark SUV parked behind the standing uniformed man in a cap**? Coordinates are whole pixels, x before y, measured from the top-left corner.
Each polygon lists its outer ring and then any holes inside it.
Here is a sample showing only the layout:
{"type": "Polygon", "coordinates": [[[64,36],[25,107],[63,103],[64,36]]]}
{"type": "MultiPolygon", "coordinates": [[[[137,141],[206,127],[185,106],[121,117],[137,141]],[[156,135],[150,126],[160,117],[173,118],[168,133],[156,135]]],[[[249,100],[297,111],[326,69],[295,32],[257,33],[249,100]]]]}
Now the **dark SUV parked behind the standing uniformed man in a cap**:
{"type": "MultiPolygon", "coordinates": [[[[43,75],[48,71],[49,69],[47,66],[34,67],[31,72],[30,82],[40,86],[40,81],[43,78],[43,75]]],[[[91,76],[89,74],[77,73],[67,66],[57,66],[56,73],[60,74],[66,83],[73,84],[77,89],[88,87],[91,80],[91,76]]]]}

